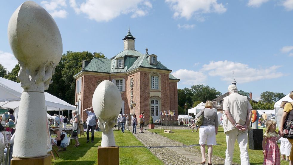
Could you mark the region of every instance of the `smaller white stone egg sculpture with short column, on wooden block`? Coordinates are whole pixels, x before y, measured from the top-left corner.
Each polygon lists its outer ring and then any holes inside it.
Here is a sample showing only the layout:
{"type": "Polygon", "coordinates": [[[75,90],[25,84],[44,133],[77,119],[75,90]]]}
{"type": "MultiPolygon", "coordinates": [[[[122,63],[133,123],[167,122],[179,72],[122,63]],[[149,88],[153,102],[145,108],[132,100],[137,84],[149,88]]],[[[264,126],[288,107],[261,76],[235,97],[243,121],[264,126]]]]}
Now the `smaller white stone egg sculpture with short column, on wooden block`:
{"type": "Polygon", "coordinates": [[[122,99],[117,86],[109,80],[102,81],[94,91],[93,109],[102,130],[101,147],[115,146],[113,127],[121,110],[122,99]]]}

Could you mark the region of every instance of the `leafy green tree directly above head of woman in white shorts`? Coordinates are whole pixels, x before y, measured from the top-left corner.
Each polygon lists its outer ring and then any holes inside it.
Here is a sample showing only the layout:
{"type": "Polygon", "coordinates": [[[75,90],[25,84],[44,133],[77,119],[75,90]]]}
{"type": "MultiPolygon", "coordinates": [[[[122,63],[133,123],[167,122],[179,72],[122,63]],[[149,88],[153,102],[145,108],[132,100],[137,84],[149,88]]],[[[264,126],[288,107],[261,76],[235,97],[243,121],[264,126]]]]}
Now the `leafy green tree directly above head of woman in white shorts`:
{"type": "Polygon", "coordinates": [[[215,88],[210,88],[208,85],[193,85],[191,87],[193,92],[192,101],[206,102],[207,100],[212,101],[218,96],[222,95],[221,92],[217,91],[215,88]]]}

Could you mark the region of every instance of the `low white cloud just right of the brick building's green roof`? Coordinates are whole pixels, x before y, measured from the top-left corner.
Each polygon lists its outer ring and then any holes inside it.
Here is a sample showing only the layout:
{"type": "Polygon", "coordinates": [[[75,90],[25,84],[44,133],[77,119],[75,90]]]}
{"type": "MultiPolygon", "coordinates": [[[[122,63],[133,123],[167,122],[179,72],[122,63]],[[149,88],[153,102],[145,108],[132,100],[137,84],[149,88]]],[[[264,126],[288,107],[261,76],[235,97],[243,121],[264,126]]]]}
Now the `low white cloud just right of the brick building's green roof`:
{"type": "Polygon", "coordinates": [[[179,78],[182,84],[187,85],[204,84],[207,80],[207,76],[204,73],[193,70],[179,69],[171,74],[179,78]]]}

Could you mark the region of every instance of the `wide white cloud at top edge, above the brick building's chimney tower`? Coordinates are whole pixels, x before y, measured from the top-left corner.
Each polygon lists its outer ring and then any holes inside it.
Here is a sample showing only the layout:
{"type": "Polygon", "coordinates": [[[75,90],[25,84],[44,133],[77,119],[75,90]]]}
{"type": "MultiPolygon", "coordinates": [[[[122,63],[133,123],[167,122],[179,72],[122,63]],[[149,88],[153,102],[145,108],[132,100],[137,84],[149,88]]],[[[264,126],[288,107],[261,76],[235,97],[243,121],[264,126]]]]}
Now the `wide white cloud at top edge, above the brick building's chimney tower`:
{"type": "Polygon", "coordinates": [[[152,8],[151,2],[143,0],[86,0],[81,4],[77,4],[75,0],[69,2],[75,13],[85,13],[89,19],[97,22],[110,21],[128,13],[132,13],[131,18],[146,16],[152,8]]]}

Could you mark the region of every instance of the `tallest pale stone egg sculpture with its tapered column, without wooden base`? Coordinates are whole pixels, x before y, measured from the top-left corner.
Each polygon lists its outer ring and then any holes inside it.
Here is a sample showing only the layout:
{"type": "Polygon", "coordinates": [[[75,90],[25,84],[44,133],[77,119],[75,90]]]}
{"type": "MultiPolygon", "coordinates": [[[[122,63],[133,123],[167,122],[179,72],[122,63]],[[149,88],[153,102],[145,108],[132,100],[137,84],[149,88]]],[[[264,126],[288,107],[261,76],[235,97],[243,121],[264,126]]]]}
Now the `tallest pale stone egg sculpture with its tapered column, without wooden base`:
{"type": "Polygon", "coordinates": [[[33,1],[26,1],[10,18],[8,40],[20,66],[17,79],[24,89],[19,106],[13,157],[46,156],[44,90],[52,83],[52,75],[62,56],[61,34],[54,19],[43,7],[33,1]],[[34,133],[28,130],[34,130],[34,133]]]}

